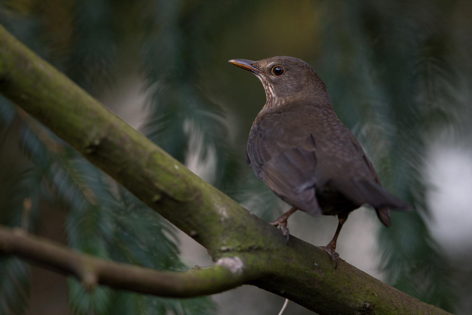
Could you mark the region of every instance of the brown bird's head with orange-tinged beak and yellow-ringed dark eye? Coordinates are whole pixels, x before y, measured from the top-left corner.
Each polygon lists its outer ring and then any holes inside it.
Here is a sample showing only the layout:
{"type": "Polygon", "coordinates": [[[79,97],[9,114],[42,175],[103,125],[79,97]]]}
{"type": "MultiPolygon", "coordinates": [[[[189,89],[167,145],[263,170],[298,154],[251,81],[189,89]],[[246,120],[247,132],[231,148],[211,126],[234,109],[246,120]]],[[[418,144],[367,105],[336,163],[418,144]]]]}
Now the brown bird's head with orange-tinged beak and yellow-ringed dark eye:
{"type": "Polygon", "coordinates": [[[328,96],[320,77],[298,58],[278,56],[259,61],[232,59],[228,62],[253,72],[261,80],[267,104],[277,106],[287,101],[328,96]]]}

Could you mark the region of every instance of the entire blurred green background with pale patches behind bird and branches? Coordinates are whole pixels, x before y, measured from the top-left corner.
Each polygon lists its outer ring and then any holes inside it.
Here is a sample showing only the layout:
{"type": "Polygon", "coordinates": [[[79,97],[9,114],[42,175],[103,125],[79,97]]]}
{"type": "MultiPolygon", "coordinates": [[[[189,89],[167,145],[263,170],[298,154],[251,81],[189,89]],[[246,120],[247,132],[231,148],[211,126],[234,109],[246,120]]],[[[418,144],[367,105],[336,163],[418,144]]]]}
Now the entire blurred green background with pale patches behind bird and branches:
{"type": "MultiPolygon", "coordinates": [[[[472,314],[472,2],[469,0],[0,0],[0,23],[131,126],[265,220],[288,209],[245,164],[265,103],[228,64],[308,62],[384,187],[414,206],[350,215],[348,263],[455,314],[472,314]]],[[[158,269],[206,250],[0,95],[0,220],[83,252],[158,269]]],[[[326,245],[335,217],[296,213],[326,245]]],[[[243,286],[169,299],[66,279],[0,256],[0,314],[267,314],[284,299],[243,286]]],[[[290,314],[314,314],[290,303],[290,314]]]]}

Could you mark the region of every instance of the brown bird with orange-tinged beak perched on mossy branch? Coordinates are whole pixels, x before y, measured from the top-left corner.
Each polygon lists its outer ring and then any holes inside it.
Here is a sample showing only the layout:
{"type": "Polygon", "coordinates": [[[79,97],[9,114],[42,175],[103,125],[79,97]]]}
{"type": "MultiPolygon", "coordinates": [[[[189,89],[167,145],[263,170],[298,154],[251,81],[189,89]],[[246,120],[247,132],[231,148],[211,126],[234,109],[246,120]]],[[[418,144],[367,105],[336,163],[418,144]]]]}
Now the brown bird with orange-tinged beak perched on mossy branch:
{"type": "Polygon", "coordinates": [[[386,226],[389,207],[409,209],[384,190],[354,135],[333,111],[326,86],[303,60],[273,57],[229,60],[258,77],[267,102],[253,122],[246,147],[254,173],[292,208],[277,220],[289,237],[287,219],[297,209],[312,216],[337,215],[326,250],[337,266],[336,241],[350,212],[370,204],[386,226]]]}

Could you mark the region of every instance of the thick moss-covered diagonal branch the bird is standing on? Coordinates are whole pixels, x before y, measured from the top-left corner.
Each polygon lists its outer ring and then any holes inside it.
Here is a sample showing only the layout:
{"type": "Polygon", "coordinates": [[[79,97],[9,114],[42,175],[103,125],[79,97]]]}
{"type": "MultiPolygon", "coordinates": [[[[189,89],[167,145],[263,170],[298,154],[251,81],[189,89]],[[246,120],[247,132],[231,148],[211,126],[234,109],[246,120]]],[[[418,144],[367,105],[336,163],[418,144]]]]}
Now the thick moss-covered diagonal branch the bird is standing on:
{"type": "Polygon", "coordinates": [[[0,92],[206,247],[214,261],[241,259],[241,279],[254,279],[246,283],[320,315],[449,314],[343,260],[334,269],[328,253],[298,238],[286,244],[278,229],[200,179],[1,26],[0,92]]]}

